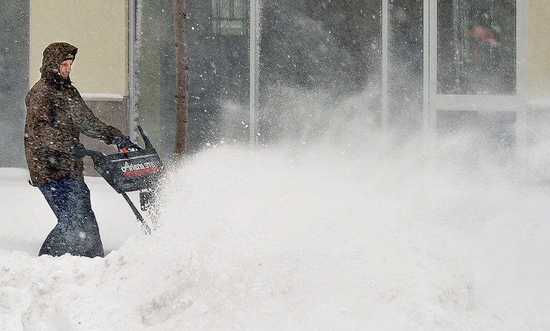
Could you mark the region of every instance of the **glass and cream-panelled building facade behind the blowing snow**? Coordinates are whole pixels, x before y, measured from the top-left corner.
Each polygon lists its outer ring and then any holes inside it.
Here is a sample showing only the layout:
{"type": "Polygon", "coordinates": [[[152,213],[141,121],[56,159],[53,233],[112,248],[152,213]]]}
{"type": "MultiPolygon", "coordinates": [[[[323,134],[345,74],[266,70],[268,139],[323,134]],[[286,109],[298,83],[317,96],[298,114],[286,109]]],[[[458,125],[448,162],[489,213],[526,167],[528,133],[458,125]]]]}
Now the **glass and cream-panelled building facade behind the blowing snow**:
{"type": "MultiPolygon", "coordinates": [[[[289,89],[340,100],[367,95],[364,111],[381,128],[404,133],[445,135],[478,126],[489,131],[487,144],[514,148],[544,128],[550,0],[258,2],[259,21],[251,20],[249,0],[186,1],[191,152],[220,141],[276,137],[272,124],[295,115],[285,104],[289,89]],[[259,63],[252,63],[259,68],[252,78],[259,86],[256,117],[249,107],[251,22],[261,36],[259,63]],[[251,127],[258,133],[251,135],[251,127]]],[[[142,125],[169,157],[175,127],[170,1],[0,6],[0,166],[25,166],[23,99],[39,79],[43,49],[54,41],[79,48],[71,77],[98,116],[133,137],[142,125]]]]}

